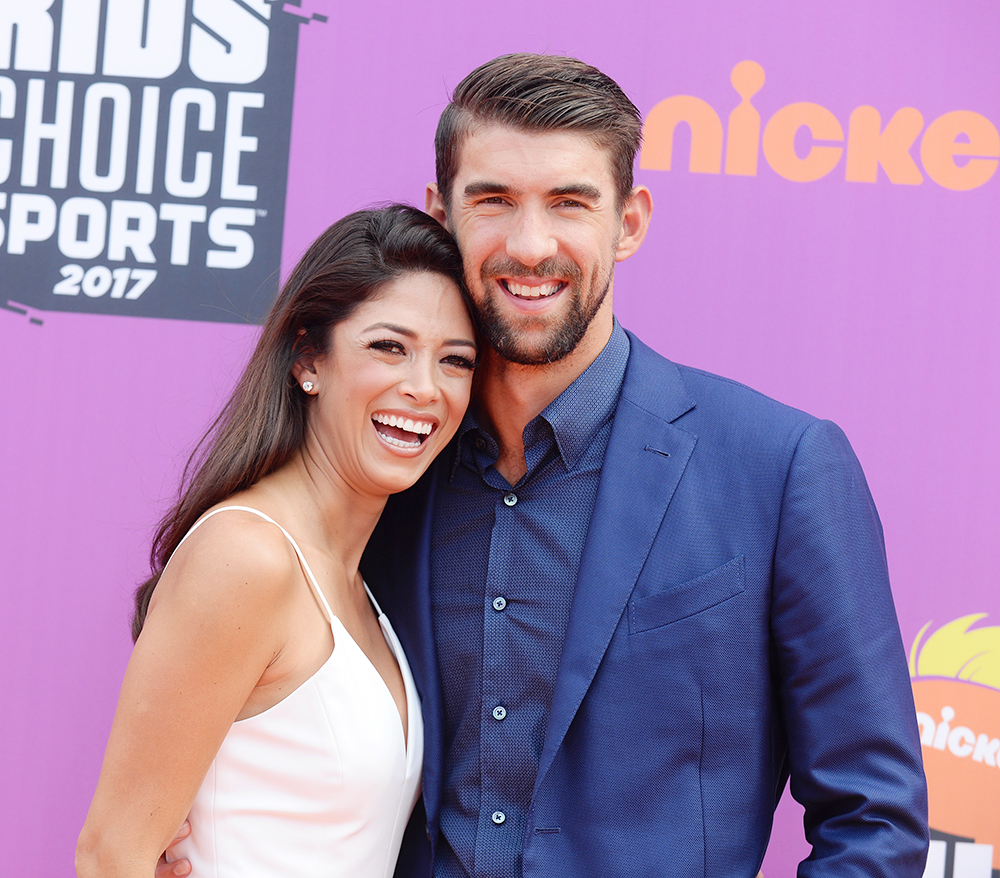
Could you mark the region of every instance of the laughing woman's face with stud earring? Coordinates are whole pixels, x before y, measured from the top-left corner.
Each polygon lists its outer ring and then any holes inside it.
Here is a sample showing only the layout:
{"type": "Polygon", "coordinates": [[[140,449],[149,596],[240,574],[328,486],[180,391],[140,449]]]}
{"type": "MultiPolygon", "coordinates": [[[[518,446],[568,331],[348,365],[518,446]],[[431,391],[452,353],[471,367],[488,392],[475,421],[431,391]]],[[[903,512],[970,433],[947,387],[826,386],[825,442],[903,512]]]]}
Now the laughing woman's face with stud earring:
{"type": "Polygon", "coordinates": [[[458,287],[404,274],[331,330],[309,369],[316,401],[309,444],[354,490],[389,494],[414,484],[448,444],[469,404],[476,342],[458,287]]]}

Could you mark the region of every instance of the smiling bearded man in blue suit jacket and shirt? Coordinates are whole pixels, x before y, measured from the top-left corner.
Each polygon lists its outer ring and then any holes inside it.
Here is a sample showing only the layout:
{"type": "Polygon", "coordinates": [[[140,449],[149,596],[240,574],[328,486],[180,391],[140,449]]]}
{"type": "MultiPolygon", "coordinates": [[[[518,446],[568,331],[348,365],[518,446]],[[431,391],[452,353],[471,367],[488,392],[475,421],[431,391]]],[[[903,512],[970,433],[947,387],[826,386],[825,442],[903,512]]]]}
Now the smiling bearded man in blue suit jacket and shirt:
{"type": "Polygon", "coordinates": [[[488,344],[451,450],[363,565],[426,724],[397,875],[752,878],[790,776],[801,878],[920,878],[864,474],[835,425],[615,321],[652,210],[639,136],[621,89],[566,58],[495,59],[442,115],[427,207],[488,344]]]}

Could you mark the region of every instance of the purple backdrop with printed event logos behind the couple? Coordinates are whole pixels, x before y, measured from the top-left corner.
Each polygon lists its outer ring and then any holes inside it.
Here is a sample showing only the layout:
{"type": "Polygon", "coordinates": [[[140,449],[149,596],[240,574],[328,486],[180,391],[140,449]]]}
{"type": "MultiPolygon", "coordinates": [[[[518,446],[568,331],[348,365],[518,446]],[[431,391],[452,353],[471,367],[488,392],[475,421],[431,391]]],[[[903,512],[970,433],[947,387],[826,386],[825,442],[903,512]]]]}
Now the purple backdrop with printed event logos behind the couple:
{"type": "MultiPolygon", "coordinates": [[[[647,119],[621,321],[851,437],[910,651],[927,878],[995,876],[998,45],[994,0],[0,2],[2,871],[72,874],[151,528],[279,277],[345,213],[422,204],[450,89],[534,51],[647,119]]],[[[765,878],[807,851],[786,799],[765,878]]]]}

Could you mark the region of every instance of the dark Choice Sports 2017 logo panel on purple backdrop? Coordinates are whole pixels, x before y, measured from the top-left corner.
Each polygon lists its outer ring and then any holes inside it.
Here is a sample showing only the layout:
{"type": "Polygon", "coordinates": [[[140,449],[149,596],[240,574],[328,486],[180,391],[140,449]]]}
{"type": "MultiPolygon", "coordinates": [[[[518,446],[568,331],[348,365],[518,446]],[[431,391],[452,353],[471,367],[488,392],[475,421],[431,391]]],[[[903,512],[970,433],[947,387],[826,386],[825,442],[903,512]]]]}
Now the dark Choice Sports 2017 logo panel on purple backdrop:
{"type": "Polygon", "coordinates": [[[302,21],[281,10],[0,3],[4,301],[261,319],[278,283],[302,21]]]}

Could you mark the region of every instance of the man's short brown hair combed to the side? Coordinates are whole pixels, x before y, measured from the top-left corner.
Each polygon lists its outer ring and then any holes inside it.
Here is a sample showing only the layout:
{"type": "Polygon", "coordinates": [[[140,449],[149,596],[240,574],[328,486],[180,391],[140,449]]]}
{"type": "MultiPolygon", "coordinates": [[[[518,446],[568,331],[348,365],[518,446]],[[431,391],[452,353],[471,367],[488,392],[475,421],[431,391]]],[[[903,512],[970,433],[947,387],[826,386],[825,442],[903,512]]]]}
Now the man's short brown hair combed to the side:
{"type": "Polygon", "coordinates": [[[437,184],[446,210],[459,147],[476,124],[589,134],[611,158],[619,209],[632,191],[642,118],[613,79],[576,58],[501,55],[458,84],[434,138],[437,184]]]}

